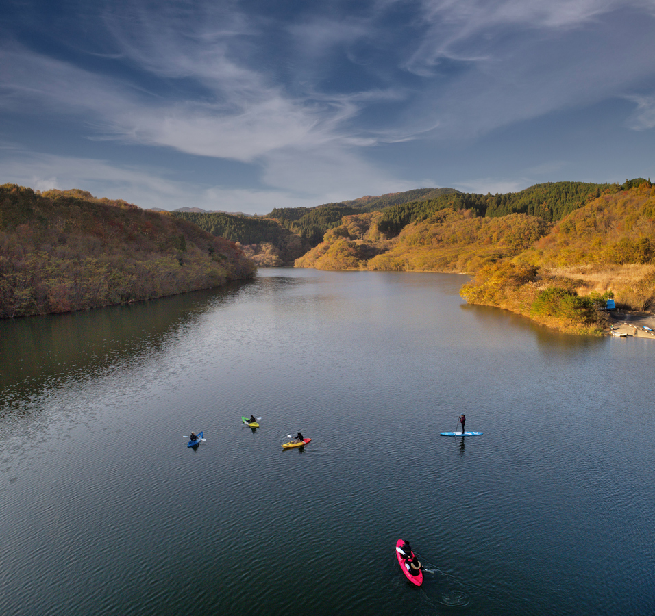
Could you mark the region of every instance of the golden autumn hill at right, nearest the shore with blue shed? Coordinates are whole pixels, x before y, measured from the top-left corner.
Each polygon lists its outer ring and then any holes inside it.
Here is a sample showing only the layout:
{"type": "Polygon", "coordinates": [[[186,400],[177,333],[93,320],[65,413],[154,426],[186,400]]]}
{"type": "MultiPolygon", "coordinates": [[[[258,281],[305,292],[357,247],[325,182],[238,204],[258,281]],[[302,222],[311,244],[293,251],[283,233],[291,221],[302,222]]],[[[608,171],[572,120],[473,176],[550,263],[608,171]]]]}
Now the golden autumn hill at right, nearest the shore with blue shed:
{"type": "Polygon", "coordinates": [[[478,270],[462,296],[565,331],[601,331],[608,298],[620,309],[653,311],[655,186],[632,182],[595,198],[526,251],[478,270]]]}

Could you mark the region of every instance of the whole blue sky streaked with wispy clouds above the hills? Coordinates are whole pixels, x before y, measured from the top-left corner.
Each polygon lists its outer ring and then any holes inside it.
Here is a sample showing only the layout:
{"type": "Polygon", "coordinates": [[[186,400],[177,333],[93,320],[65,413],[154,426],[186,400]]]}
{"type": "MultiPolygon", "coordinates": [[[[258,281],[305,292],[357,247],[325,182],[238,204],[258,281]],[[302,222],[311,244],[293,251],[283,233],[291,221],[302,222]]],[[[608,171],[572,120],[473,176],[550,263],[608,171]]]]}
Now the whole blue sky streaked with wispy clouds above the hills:
{"type": "Polygon", "coordinates": [[[3,0],[0,183],[267,214],[655,179],[655,0],[3,0]]]}

